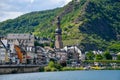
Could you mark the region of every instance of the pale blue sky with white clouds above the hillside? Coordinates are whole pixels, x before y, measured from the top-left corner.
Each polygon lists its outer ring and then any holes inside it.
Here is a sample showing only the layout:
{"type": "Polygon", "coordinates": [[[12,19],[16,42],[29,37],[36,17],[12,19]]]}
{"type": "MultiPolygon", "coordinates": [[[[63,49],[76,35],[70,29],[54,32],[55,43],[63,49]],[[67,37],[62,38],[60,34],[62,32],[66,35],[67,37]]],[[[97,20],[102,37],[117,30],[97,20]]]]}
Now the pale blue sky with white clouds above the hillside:
{"type": "Polygon", "coordinates": [[[72,0],[0,0],[0,22],[32,11],[62,7],[72,0]]]}

